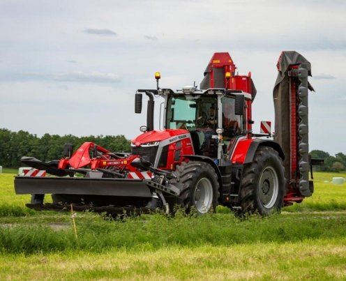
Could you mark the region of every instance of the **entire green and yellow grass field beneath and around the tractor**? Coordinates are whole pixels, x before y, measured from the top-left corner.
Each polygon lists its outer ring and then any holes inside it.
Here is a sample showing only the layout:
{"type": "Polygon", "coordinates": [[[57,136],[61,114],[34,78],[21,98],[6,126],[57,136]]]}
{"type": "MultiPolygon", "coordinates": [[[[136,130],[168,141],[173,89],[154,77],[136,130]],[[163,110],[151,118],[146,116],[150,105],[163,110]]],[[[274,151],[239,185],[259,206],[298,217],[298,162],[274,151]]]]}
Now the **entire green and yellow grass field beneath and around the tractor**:
{"type": "Polygon", "coordinates": [[[0,174],[0,280],[345,280],[346,183],[315,173],[315,193],[270,218],[220,213],[124,222],[25,208],[0,174]]]}

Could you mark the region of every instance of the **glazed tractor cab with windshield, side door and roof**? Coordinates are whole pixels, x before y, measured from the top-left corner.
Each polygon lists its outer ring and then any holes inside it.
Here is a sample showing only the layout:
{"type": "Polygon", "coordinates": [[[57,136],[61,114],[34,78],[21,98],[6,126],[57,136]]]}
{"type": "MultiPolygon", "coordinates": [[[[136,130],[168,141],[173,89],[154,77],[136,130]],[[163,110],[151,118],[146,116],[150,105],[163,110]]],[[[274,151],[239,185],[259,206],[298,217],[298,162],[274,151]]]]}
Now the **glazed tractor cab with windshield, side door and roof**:
{"type": "MultiPolygon", "coordinates": [[[[176,93],[170,91],[165,96],[164,128],[188,130],[196,155],[219,158],[219,142],[227,148],[231,139],[243,133],[246,116],[243,111],[236,112],[235,105],[236,96],[243,102],[244,95],[246,93],[232,93],[225,89],[189,93],[184,89],[176,93]]],[[[243,102],[242,107],[244,105],[243,102]]]]}

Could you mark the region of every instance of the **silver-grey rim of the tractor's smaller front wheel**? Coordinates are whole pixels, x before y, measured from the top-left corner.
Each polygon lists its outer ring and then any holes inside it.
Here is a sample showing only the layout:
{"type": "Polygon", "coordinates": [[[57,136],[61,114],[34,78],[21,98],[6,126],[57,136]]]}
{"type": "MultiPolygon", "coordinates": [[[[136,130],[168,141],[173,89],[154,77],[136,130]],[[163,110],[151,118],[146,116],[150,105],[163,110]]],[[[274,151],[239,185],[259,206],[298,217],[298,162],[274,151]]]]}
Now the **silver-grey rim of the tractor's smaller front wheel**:
{"type": "Polygon", "coordinates": [[[200,179],[195,189],[195,207],[199,213],[206,213],[213,202],[213,185],[206,178],[200,179]]]}

